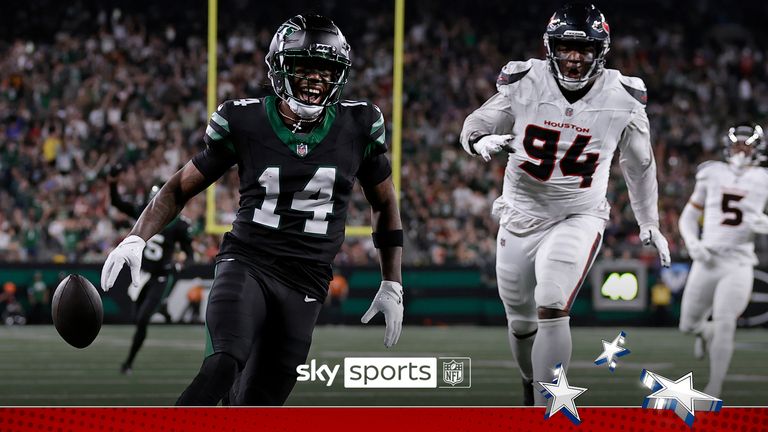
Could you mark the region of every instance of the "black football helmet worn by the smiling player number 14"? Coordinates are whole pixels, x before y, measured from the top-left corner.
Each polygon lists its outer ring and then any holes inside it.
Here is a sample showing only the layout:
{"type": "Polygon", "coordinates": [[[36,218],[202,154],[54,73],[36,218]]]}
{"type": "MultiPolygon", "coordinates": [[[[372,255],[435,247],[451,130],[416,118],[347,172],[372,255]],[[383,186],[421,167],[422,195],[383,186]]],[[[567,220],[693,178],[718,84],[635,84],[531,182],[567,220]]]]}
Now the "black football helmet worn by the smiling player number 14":
{"type": "Polygon", "coordinates": [[[347,39],[329,18],[296,15],[277,29],[264,60],[277,96],[286,101],[301,119],[314,120],[325,107],[341,99],[352,65],[351,55],[347,39]],[[308,79],[296,74],[297,66],[331,71],[330,79],[315,81],[322,82],[328,88],[324,95],[320,95],[319,101],[310,103],[299,99],[301,90],[294,88],[294,83],[308,79]]]}

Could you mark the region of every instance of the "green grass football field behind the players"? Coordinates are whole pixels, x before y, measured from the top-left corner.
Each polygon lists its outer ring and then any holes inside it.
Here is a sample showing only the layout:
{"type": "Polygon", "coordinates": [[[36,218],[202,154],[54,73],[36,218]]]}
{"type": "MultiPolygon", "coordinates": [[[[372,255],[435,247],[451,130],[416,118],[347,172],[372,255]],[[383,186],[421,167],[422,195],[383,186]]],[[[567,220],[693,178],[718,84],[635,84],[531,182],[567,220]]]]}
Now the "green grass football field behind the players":
{"type": "MultiPolygon", "coordinates": [[[[341,372],[333,386],[298,383],[289,405],[517,405],[520,379],[508,353],[502,327],[406,327],[395,350],[385,351],[382,327],[319,327],[310,359],[341,364],[346,356],[468,356],[470,389],[345,389],[341,372]]],[[[52,326],[0,327],[0,405],[172,405],[197,372],[204,330],[199,326],[156,325],[135,362],[131,376],[119,365],[133,334],[130,326],[106,326],[93,345],[78,350],[59,338],[52,326]]],[[[580,406],[640,406],[649,391],[640,371],[677,379],[693,371],[703,390],[706,361],[692,357],[693,340],[675,329],[575,328],[571,385],[587,387],[580,406]],[[627,348],[614,373],[593,365],[601,339],[627,332],[627,348]]],[[[762,329],[739,330],[726,406],[768,405],[768,371],[763,368],[768,339],[762,329]]],[[[340,368],[343,369],[343,368],[340,368]]]]}

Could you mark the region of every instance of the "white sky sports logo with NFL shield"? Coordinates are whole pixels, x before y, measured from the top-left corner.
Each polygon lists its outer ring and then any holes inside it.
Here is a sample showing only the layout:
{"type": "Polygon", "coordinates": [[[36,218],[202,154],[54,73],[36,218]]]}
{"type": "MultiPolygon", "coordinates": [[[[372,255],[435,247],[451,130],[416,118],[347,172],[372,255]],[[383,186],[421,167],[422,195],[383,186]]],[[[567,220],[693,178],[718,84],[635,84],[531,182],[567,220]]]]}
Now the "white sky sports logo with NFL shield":
{"type": "MultiPolygon", "coordinates": [[[[298,381],[333,385],[340,365],[309,364],[296,367],[298,381]]],[[[469,357],[345,357],[345,388],[470,388],[469,357]]]]}

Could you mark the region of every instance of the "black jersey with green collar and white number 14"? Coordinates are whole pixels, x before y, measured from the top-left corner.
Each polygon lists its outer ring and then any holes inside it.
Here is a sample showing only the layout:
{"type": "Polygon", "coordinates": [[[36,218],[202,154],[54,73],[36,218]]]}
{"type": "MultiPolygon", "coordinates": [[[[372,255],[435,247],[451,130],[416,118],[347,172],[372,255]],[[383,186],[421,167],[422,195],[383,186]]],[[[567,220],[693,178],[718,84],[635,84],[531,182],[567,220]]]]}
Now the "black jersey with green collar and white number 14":
{"type": "MultiPolygon", "coordinates": [[[[221,251],[245,245],[260,255],[330,265],[344,241],[357,178],[376,185],[391,174],[384,117],[368,102],[326,108],[309,133],[293,133],[279,99],[231,100],[211,115],[207,149],[192,161],[209,180],[237,164],[240,209],[221,251]]],[[[242,254],[242,251],[236,251],[242,254]]]]}

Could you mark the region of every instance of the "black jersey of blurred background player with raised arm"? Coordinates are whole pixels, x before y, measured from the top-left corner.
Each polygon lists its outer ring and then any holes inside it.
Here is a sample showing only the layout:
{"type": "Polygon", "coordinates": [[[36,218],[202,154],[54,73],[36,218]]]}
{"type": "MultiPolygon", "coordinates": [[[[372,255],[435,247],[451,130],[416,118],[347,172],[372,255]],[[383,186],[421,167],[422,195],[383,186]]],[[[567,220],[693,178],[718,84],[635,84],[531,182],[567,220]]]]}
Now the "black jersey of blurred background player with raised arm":
{"type": "MultiPolygon", "coordinates": [[[[136,206],[124,201],[117,192],[117,185],[112,185],[109,190],[112,205],[126,215],[138,219],[144,206],[136,206]]],[[[141,259],[141,269],[152,274],[164,274],[173,269],[173,252],[176,244],[191,260],[192,234],[189,222],[181,216],[172,220],[162,231],[147,240],[144,254],[141,259]]]]}

